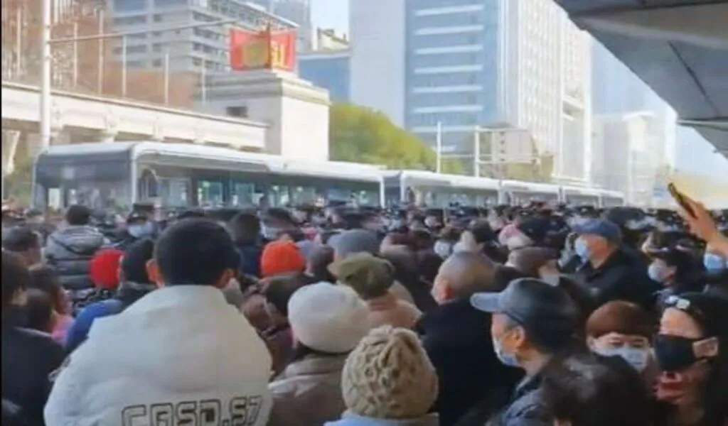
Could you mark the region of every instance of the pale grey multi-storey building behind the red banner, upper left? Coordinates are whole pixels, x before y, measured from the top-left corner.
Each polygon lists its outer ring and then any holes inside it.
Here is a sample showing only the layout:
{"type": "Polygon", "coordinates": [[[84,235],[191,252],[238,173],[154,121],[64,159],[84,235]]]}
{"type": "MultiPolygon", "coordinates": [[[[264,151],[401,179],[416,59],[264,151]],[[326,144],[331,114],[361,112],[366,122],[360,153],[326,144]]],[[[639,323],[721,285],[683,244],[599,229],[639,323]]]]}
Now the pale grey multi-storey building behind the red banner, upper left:
{"type": "MultiPolygon", "coordinates": [[[[296,28],[296,24],[242,0],[108,0],[115,31],[239,19],[237,25],[261,30],[296,28]]],[[[172,71],[215,73],[229,70],[229,29],[223,25],[151,32],[127,38],[129,68],[159,68],[169,56],[172,71]]],[[[122,47],[116,47],[121,58],[122,47]]]]}

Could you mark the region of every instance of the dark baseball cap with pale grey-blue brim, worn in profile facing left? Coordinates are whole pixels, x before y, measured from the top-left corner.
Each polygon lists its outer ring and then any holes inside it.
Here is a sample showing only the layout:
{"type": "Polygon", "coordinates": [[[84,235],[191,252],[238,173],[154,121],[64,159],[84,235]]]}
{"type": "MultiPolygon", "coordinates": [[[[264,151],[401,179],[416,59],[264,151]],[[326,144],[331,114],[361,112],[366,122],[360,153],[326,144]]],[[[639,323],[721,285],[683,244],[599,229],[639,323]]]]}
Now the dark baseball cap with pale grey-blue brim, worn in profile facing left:
{"type": "Polygon", "coordinates": [[[577,329],[579,310],[569,294],[536,278],[511,281],[500,293],[477,293],[470,304],[488,313],[503,313],[526,331],[569,336],[577,329]]]}

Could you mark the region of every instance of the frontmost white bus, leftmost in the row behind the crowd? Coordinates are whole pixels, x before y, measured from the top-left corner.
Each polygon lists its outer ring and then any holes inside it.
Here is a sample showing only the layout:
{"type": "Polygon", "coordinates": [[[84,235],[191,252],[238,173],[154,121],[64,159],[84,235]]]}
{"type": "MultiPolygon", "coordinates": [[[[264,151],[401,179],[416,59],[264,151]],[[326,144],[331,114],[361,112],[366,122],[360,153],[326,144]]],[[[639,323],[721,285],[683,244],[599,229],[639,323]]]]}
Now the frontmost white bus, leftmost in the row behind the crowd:
{"type": "Polygon", "coordinates": [[[33,204],[128,210],[161,207],[283,206],[323,200],[382,203],[381,168],[298,161],[229,148],[163,142],[55,145],[33,168],[33,204]]]}

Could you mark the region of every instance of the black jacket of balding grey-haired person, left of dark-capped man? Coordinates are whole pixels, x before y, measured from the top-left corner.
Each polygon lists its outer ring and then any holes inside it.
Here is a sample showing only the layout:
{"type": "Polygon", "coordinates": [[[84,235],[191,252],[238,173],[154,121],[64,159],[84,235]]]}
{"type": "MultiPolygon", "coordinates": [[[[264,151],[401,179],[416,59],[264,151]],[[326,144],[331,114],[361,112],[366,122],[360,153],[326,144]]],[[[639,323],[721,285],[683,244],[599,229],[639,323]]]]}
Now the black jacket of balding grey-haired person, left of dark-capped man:
{"type": "Polygon", "coordinates": [[[454,425],[476,403],[494,398],[493,393],[503,393],[505,403],[523,375],[498,361],[491,315],[472,308],[467,298],[425,313],[415,329],[438,371],[440,391],[432,411],[440,414],[440,426],[454,425]]]}

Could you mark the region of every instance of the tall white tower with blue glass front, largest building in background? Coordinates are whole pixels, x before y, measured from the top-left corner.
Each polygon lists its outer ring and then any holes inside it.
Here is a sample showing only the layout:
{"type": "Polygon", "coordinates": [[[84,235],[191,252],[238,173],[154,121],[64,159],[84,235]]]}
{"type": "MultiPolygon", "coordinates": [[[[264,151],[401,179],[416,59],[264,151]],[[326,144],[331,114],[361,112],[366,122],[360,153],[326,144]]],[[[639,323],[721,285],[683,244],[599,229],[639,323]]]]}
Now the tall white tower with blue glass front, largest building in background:
{"type": "MultiPolygon", "coordinates": [[[[440,123],[449,152],[472,152],[476,126],[527,129],[542,153],[585,145],[586,36],[554,1],[353,1],[350,14],[353,103],[432,145],[440,123]]],[[[557,156],[557,174],[584,179],[585,156],[557,156]]]]}

